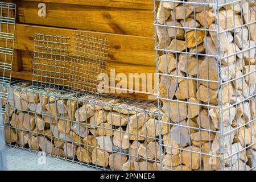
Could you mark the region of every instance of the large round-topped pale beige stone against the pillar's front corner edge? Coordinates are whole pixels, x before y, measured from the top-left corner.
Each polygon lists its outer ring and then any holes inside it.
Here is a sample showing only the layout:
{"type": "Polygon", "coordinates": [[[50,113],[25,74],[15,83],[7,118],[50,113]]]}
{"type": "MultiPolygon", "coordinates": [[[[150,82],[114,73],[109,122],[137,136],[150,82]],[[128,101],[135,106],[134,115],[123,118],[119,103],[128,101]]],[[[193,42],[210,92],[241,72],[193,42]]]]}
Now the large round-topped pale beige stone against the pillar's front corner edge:
{"type": "MultiPolygon", "coordinates": [[[[205,59],[199,66],[199,78],[202,80],[218,81],[218,63],[214,58],[205,59]]],[[[217,82],[200,81],[204,86],[217,90],[217,82]]]]}

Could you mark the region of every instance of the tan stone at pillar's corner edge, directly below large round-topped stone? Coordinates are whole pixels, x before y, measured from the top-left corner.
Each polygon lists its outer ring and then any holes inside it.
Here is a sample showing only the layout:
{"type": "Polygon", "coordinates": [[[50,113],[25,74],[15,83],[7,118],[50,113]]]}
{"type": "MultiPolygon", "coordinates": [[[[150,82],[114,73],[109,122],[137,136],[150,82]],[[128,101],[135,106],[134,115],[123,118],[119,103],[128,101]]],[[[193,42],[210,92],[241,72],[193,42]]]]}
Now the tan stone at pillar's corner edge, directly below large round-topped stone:
{"type": "Polygon", "coordinates": [[[217,105],[218,104],[218,90],[207,88],[204,85],[200,85],[197,90],[197,99],[206,103],[217,105]]]}

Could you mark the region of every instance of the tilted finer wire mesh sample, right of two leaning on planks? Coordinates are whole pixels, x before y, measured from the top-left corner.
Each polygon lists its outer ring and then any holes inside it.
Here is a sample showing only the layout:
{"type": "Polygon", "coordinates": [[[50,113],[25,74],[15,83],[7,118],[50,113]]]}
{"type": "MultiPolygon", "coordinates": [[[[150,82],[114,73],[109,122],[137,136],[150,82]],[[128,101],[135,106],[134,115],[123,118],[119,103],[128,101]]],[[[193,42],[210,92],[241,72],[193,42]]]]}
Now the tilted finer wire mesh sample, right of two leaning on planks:
{"type": "Polygon", "coordinates": [[[103,93],[103,90],[98,90],[98,75],[105,72],[109,41],[75,32],[72,43],[68,89],[81,94],[103,93]]]}

